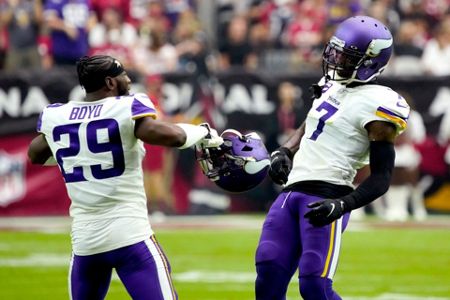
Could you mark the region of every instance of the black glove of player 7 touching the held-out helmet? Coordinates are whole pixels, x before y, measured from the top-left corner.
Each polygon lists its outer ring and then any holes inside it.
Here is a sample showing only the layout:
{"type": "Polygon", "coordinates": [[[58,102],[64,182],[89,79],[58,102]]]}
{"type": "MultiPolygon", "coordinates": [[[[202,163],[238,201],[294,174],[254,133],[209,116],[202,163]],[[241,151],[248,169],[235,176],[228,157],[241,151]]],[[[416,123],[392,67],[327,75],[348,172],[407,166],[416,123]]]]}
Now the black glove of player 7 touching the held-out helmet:
{"type": "Polygon", "coordinates": [[[280,147],[270,154],[269,176],[276,184],[287,182],[289,172],[292,169],[292,152],[286,147],[280,147]]]}

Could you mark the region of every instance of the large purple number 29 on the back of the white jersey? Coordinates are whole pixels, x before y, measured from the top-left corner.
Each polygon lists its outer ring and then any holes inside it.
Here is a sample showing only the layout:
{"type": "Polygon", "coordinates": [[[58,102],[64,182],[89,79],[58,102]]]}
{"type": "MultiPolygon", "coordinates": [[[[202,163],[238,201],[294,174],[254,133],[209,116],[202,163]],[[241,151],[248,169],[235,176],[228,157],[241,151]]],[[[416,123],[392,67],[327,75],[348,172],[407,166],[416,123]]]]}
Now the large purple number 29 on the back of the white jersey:
{"type": "MultiPolygon", "coordinates": [[[[74,166],[72,173],[64,170],[64,158],[74,157],[80,153],[80,130],[81,123],[57,126],[53,129],[53,140],[58,142],[63,134],[69,136],[69,147],[58,149],[55,153],[56,161],[61,168],[66,183],[86,181],[82,166],[74,166]]],[[[100,164],[91,165],[92,176],[96,179],[105,179],[120,176],[125,171],[125,157],[123,154],[122,140],[120,138],[119,124],[114,119],[94,120],[86,126],[87,146],[91,153],[111,152],[113,166],[103,169],[100,164]],[[98,142],[98,130],[106,129],[109,141],[98,142]]]]}

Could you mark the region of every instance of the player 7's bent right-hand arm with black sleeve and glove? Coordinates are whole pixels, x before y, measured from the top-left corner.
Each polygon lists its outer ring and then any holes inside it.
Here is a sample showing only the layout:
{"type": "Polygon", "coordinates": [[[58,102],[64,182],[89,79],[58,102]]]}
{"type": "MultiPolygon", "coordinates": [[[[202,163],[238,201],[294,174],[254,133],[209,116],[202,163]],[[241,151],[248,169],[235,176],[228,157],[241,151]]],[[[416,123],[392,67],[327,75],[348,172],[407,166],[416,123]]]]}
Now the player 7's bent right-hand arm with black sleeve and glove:
{"type": "Polygon", "coordinates": [[[325,199],[308,205],[305,218],[314,226],[324,226],[344,213],[369,204],[389,189],[394,168],[395,126],[384,121],[366,125],[370,141],[370,175],[353,192],[339,199],[325,199]]]}

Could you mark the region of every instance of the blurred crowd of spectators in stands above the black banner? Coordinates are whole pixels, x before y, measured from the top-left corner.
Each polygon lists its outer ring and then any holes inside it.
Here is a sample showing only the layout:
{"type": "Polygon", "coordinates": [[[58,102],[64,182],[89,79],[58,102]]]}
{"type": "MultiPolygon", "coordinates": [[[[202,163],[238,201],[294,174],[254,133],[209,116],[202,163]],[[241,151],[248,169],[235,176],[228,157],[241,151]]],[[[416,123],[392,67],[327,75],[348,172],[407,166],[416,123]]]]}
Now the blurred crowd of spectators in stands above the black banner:
{"type": "Polygon", "coordinates": [[[108,53],[144,75],[233,65],[308,72],[335,24],[358,14],[395,37],[395,74],[450,74],[447,0],[1,0],[0,67],[108,53]]]}

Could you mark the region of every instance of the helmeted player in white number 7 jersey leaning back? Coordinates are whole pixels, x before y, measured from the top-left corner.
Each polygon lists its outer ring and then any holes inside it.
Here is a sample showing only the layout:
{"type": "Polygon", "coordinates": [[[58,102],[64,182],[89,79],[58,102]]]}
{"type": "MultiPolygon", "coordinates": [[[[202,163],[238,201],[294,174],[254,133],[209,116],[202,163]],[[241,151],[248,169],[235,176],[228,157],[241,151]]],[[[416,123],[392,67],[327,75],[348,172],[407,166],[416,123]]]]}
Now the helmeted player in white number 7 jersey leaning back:
{"type": "Polygon", "coordinates": [[[284,189],[256,251],[256,299],[285,299],[297,269],[303,299],[341,299],[332,288],[341,234],[351,210],[389,188],[393,142],[409,114],[400,95],[375,82],[392,42],[381,22],[357,16],[343,21],[326,44],[312,108],[271,154],[269,175],[284,189]],[[370,176],[354,189],[356,170],[367,164],[370,176]]]}

